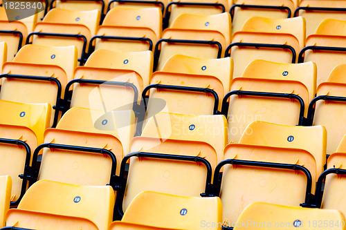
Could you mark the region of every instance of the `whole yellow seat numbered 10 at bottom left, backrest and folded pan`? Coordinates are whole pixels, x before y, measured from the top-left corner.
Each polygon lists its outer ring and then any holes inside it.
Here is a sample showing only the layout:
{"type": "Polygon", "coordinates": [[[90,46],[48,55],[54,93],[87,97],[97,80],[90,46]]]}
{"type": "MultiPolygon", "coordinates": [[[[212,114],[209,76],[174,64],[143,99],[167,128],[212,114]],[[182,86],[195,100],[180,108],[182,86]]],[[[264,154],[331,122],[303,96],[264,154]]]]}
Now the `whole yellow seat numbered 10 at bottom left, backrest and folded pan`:
{"type": "Polygon", "coordinates": [[[6,215],[6,226],[26,229],[108,229],[111,186],[80,186],[41,180],[6,215]]]}

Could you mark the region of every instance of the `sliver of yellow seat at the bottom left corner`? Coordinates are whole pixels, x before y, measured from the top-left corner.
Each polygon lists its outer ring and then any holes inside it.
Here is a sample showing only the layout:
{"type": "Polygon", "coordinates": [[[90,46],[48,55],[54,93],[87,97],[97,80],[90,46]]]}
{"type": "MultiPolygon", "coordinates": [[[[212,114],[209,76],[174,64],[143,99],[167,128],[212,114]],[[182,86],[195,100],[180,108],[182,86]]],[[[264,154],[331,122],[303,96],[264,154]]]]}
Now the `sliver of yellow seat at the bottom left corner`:
{"type": "Polygon", "coordinates": [[[12,180],[9,175],[0,176],[0,227],[5,227],[6,213],[10,209],[12,180]]]}

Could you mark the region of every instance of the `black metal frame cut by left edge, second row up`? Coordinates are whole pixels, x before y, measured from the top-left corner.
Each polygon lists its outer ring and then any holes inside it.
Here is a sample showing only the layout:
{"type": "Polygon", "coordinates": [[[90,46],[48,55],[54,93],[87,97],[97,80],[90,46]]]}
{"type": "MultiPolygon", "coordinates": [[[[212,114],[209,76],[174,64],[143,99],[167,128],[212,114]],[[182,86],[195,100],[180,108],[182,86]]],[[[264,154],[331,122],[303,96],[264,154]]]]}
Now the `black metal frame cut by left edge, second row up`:
{"type": "MultiPolygon", "coordinates": [[[[28,170],[30,168],[30,157],[31,157],[30,146],[28,146],[28,144],[26,144],[26,142],[23,142],[21,140],[11,140],[11,139],[6,139],[6,138],[0,138],[0,143],[23,146],[25,148],[25,151],[26,151],[24,171],[23,171],[23,174],[18,175],[19,178],[21,178],[21,180],[23,180],[21,182],[21,194],[19,195],[19,198],[16,201],[11,201],[11,206],[17,206],[19,204],[21,198],[23,198],[24,193],[26,192],[26,186],[28,184],[28,180],[31,179],[30,175],[28,175],[28,170]]],[[[14,160],[16,160],[16,159],[14,159],[14,160]]]]}

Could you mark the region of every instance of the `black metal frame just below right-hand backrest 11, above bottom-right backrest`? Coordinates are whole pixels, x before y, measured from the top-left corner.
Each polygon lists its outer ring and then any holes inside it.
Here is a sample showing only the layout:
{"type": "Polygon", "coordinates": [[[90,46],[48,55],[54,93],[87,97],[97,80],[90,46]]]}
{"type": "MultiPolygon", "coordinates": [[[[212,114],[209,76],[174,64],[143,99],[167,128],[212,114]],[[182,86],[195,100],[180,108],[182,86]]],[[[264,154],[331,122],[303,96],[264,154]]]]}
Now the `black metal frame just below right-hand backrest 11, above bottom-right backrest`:
{"type": "Polygon", "coordinates": [[[308,206],[311,203],[312,195],[311,195],[311,185],[312,185],[312,178],[311,173],[307,168],[304,166],[300,166],[298,164],[280,164],[280,163],[272,163],[272,162],[254,162],[250,160],[223,160],[219,164],[217,164],[215,168],[214,173],[214,180],[212,182],[214,186],[213,195],[219,196],[220,190],[221,190],[221,182],[222,182],[222,175],[220,173],[221,168],[225,164],[237,164],[237,165],[244,165],[244,166],[257,166],[262,168],[270,168],[270,169],[291,169],[293,171],[298,170],[302,171],[307,176],[307,189],[305,191],[305,200],[303,204],[300,204],[301,206],[308,206]]]}

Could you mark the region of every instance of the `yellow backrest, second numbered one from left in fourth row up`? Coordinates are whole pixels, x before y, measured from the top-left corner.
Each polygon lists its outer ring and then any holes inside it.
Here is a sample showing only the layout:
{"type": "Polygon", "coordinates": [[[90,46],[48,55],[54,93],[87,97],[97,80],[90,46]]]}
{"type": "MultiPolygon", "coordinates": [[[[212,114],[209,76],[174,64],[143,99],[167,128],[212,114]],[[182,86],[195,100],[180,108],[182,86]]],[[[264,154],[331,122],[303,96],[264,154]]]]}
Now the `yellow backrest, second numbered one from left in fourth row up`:
{"type": "Polygon", "coordinates": [[[149,28],[161,38],[162,13],[158,8],[126,8],[116,7],[107,12],[102,26],[127,26],[149,28]]]}

